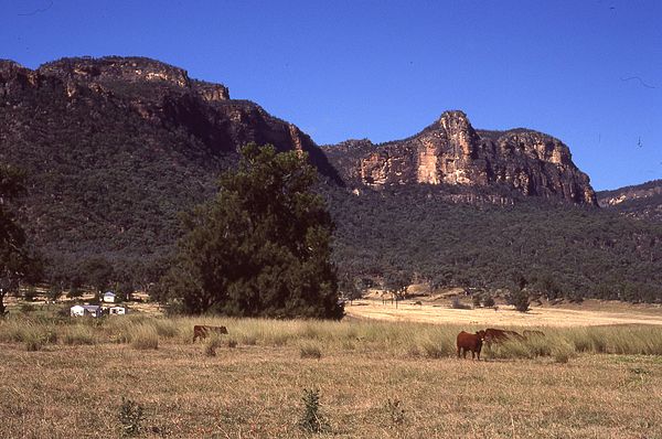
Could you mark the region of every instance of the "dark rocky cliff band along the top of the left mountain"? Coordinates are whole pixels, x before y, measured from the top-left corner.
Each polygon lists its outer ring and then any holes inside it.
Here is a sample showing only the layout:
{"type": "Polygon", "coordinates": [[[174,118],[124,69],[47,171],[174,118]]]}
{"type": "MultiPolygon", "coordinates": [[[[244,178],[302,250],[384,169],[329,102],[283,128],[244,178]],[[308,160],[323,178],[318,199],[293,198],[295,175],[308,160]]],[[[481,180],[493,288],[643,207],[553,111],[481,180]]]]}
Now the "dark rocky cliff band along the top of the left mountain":
{"type": "Polygon", "coordinates": [[[255,141],[278,150],[306,151],[323,175],[337,179],[323,152],[306,133],[248,100],[229,98],[227,87],[191,79],[186,71],[143,57],[76,57],[36,71],[0,61],[0,105],[25,105],[28,95],[54,94],[67,107],[127,109],[146,122],[186,131],[215,154],[255,141]],[[21,104],[22,103],[22,104],[21,104]]]}

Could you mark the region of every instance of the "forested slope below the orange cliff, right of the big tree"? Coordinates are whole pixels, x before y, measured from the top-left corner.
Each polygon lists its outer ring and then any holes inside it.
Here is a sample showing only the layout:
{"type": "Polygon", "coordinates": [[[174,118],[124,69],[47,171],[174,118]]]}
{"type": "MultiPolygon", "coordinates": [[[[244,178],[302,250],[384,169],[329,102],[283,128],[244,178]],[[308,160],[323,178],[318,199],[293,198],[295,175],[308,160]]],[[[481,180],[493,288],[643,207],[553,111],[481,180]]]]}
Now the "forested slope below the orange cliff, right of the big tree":
{"type": "Polygon", "coordinates": [[[434,188],[328,191],[341,272],[406,272],[436,286],[512,287],[549,297],[662,300],[662,225],[595,207],[449,203],[434,188]]]}

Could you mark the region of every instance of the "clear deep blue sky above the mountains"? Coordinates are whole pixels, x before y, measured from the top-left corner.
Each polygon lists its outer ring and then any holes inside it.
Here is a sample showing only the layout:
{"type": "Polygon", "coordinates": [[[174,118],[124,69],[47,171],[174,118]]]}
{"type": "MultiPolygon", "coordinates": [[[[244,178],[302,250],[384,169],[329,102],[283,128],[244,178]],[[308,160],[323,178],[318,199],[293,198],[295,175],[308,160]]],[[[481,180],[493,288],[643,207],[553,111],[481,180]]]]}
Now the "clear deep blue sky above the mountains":
{"type": "Polygon", "coordinates": [[[598,190],[662,178],[662,1],[0,0],[0,57],[142,55],[319,143],[446,109],[566,142],[598,190]]]}

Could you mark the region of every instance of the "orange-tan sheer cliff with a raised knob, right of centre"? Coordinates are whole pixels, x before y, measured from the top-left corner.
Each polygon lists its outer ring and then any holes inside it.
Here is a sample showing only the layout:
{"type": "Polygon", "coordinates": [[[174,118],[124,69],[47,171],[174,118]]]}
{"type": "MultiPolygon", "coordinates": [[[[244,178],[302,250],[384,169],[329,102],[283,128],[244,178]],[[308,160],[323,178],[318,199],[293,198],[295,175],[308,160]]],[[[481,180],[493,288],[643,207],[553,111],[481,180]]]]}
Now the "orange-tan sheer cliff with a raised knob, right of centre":
{"type": "Polygon", "coordinates": [[[596,204],[588,176],[559,140],[532,130],[477,131],[462,111],[446,111],[420,133],[374,146],[324,147],[349,184],[492,186],[525,196],[596,204]]]}

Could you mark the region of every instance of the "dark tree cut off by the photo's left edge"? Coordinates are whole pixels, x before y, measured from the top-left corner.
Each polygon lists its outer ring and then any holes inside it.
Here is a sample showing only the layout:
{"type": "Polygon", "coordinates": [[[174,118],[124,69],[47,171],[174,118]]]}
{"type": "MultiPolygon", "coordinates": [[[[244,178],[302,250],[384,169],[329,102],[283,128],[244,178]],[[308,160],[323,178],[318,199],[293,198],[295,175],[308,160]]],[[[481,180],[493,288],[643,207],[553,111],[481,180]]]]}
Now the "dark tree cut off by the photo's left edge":
{"type": "Polygon", "coordinates": [[[21,280],[36,281],[43,268],[28,247],[12,208],[12,202],[24,191],[24,178],[22,171],[0,164],[0,317],[7,312],[4,296],[19,291],[21,280]]]}

